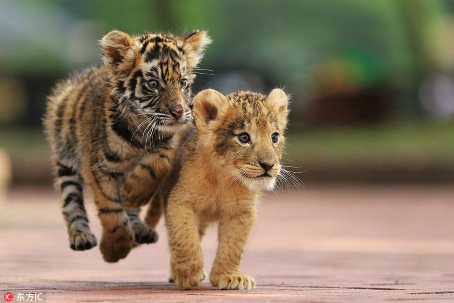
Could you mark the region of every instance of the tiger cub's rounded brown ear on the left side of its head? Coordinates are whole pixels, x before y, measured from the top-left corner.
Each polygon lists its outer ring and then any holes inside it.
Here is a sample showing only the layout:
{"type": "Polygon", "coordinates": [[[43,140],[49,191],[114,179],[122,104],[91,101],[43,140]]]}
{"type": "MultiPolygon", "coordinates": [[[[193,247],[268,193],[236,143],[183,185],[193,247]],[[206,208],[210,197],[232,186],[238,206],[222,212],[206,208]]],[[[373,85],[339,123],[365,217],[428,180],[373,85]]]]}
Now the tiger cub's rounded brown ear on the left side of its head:
{"type": "Polygon", "coordinates": [[[130,35],[119,30],[112,30],[101,39],[102,59],[112,71],[126,72],[136,59],[136,42],[130,35]]]}

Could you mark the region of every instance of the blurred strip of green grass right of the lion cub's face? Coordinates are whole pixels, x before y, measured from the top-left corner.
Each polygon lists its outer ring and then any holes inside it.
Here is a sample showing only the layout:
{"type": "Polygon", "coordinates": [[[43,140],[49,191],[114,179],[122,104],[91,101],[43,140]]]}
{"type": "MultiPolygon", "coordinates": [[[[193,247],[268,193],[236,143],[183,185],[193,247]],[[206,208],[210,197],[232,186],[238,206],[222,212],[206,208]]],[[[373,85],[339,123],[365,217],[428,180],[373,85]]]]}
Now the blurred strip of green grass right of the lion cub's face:
{"type": "Polygon", "coordinates": [[[454,123],[425,121],[380,127],[325,128],[291,133],[289,159],[304,163],[367,163],[381,165],[454,163],[454,123]]]}

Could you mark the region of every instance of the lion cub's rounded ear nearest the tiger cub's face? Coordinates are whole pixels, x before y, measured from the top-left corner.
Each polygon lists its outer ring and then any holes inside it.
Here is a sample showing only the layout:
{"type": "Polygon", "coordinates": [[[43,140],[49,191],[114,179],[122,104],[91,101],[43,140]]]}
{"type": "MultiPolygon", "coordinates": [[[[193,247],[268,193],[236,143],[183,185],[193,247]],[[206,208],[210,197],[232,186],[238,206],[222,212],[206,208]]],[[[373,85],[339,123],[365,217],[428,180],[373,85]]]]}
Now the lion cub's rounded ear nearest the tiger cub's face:
{"type": "Polygon", "coordinates": [[[227,103],[227,98],[214,89],[205,89],[199,92],[193,100],[194,121],[196,128],[201,130],[205,128],[210,121],[219,117],[219,112],[227,103]]]}

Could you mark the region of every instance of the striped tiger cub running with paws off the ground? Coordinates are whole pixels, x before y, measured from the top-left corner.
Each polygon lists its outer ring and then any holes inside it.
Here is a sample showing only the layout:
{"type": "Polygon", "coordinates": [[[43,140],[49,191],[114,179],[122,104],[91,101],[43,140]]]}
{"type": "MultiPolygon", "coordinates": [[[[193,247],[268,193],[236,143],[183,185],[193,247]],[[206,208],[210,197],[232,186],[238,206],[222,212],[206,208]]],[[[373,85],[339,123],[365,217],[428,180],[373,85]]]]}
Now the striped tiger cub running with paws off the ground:
{"type": "Polygon", "coordinates": [[[93,192],[106,262],[125,258],[134,240],[157,240],[139,207],[170,169],[179,131],[192,124],[194,69],[209,43],[205,31],[114,30],[100,41],[103,65],[60,82],[48,96],[44,128],[72,249],[97,244],[83,184],[93,192]]]}

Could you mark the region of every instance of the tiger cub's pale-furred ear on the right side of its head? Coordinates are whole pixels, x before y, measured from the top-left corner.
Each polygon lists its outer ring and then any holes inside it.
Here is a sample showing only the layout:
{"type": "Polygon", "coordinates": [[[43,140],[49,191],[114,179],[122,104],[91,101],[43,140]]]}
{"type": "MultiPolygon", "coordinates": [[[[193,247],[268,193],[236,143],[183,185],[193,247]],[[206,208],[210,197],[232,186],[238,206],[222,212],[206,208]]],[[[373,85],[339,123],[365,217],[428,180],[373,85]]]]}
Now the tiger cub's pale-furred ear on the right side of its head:
{"type": "Polygon", "coordinates": [[[211,38],[204,30],[196,30],[181,36],[184,40],[183,49],[185,51],[188,69],[193,69],[202,60],[205,47],[211,43],[211,38]]]}

